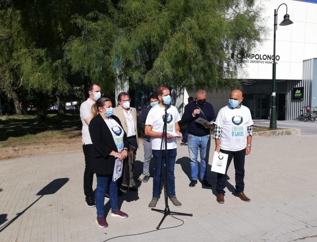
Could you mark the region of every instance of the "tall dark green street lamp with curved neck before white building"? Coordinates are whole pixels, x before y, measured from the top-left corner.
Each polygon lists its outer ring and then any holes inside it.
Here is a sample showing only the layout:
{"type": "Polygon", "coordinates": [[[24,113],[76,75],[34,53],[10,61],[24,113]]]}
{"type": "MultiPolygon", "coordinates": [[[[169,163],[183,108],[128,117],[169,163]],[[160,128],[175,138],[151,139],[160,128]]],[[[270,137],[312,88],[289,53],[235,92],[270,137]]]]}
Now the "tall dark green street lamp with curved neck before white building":
{"type": "Polygon", "coordinates": [[[277,29],[277,11],[282,5],[286,6],[286,14],[284,15],[284,20],[280,23],[281,26],[292,24],[293,22],[289,19],[287,14],[287,5],[282,3],[278,6],[277,10],[274,10],[274,47],[273,47],[273,78],[272,78],[272,101],[271,101],[271,115],[270,115],[270,128],[277,129],[276,127],[276,63],[275,63],[275,42],[276,42],[276,29],[277,29]]]}

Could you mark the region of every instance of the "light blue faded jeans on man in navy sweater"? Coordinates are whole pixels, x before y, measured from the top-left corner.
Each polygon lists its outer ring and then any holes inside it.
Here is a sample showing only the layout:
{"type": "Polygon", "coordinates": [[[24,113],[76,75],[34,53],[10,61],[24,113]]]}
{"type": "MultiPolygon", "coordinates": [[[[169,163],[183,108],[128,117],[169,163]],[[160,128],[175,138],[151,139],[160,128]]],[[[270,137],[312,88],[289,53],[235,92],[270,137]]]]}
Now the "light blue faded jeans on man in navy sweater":
{"type": "Polygon", "coordinates": [[[198,149],[200,150],[200,179],[206,179],[206,164],[209,162],[210,134],[202,137],[188,134],[187,144],[189,158],[191,158],[191,180],[198,180],[198,149]]]}

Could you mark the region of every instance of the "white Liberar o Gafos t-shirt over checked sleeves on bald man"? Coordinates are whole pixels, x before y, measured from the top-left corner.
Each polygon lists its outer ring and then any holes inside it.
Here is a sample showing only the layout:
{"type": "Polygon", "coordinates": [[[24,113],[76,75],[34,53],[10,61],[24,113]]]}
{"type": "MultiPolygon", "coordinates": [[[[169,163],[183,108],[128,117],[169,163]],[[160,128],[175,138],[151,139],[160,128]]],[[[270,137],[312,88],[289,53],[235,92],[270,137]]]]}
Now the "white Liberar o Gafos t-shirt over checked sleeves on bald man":
{"type": "Polygon", "coordinates": [[[229,108],[228,105],[220,109],[216,125],[221,127],[220,148],[238,151],[247,146],[248,127],[253,125],[249,108],[229,108]]]}

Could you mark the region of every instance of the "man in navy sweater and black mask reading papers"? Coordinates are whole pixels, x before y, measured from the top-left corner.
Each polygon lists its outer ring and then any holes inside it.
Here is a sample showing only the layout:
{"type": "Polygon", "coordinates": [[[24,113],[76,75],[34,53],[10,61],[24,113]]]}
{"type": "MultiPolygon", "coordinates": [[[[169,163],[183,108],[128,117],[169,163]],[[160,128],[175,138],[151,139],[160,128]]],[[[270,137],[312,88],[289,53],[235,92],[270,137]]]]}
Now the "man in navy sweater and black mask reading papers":
{"type": "Polygon", "coordinates": [[[196,101],[188,104],[182,117],[182,121],[188,123],[188,151],[191,159],[190,187],[197,184],[198,180],[198,150],[200,150],[200,179],[205,186],[211,186],[207,180],[206,164],[209,161],[210,128],[211,121],[215,119],[214,108],[206,102],[206,92],[198,90],[196,101]]]}

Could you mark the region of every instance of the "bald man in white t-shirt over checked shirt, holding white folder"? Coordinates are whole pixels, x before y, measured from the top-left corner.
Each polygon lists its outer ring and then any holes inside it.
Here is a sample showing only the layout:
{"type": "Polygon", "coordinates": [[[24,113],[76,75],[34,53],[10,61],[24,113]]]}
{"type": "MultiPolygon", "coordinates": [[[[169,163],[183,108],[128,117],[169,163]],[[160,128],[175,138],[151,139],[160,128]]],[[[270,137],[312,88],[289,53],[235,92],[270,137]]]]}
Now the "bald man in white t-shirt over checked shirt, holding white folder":
{"type": "Polygon", "coordinates": [[[244,158],[251,151],[253,121],[249,108],[243,106],[242,101],[242,92],[233,90],[229,104],[220,109],[215,122],[215,151],[228,154],[225,174],[217,173],[218,203],[224,203],[223,189],[226,186],[226,174],[232,158],[236,169],[236,197],[244,202],[250,201],[244,194],[244,158]]]}

